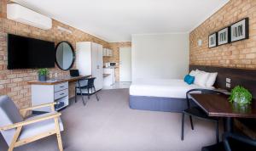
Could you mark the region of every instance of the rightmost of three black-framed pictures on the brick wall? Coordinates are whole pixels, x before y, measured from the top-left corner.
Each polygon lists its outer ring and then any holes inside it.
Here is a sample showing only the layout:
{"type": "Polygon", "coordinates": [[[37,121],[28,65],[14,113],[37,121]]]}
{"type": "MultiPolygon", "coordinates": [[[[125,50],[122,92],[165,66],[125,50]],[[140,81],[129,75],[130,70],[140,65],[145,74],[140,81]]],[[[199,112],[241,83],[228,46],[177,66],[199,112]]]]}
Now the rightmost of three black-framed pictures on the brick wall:
{"type": "Polygon", "coordinates": [[[249,19],[245,18],[230,25],[230,41],[236,42],[249,38],[249,19]]]}

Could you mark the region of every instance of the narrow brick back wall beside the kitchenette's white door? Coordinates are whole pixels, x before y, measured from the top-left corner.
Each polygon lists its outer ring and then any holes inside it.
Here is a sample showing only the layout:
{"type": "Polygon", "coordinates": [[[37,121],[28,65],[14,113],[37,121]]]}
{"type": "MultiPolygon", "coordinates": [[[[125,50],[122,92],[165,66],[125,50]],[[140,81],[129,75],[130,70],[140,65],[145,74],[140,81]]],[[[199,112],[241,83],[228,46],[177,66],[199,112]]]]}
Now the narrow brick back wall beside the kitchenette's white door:
{"type": "Polygon", "coordinates": [[[103,62],[116,62],[117,68],[115,70],[115,79],[116,81],[119,81],[119,48],[131,48],[131,42],[110,42],[108,48],[111,48],[113,50],[113,56],[112,57],[104,57],[103,62]]]}

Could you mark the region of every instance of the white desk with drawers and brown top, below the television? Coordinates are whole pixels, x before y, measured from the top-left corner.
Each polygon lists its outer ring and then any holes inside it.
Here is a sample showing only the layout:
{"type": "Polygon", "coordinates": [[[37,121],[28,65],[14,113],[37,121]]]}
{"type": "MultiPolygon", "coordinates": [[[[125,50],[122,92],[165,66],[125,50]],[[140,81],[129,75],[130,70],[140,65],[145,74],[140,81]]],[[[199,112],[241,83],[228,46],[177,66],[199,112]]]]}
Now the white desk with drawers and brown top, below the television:
{"type": "MultiPolygon", "coordinates": [[[[54,103],[55,110],[60,110],[69,104],[68,82],[79,81],[90,76],[63,76],[48,81],[28,81],[32,85],[32,106],[42,103],[54,103]]],[[[49,108],[34,109],[36,112],[49,112],[49,108]]]]}

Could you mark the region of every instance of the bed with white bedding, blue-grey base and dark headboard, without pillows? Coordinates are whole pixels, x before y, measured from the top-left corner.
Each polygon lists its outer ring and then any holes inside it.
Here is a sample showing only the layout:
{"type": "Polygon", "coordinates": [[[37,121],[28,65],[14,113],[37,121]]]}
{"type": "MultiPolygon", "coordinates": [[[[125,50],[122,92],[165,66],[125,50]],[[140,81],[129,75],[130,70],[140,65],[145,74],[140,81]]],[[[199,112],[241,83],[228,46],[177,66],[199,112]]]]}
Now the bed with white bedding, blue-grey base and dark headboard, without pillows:
{"type": "MultiPolygon", "coordinates": [[[[218,72],[213,87],[227,89],[226,78],[232,79],[231,88],[241,85],[256,96],[256,70],[232,69],[205,65],[189,65],[191,70],[218,72]]],[[[188,85],[183,80],[139,80],[133,81],[130,88],[131,109],[181,112],[186,108],[185,93],[197,85],[188,85]],[[182,88],[183,87],[183,88],[182,88]]]]}

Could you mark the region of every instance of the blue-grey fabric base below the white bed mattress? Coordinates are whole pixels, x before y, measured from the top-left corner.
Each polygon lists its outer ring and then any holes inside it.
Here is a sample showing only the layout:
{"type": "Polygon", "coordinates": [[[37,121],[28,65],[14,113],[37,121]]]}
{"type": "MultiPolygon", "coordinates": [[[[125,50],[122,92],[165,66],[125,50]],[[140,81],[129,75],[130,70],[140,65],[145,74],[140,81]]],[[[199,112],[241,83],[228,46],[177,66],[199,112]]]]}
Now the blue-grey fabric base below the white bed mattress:
{"type": "MultiPolygon", "coordinates": [[[[190,103],[191,105],[195,105],[193,102],[190,103]]],[[[188,108],[186,98],[163,98],[132,95],[130,95],[129,105],[131,109],[164,112],[182,112],[183,109],[188,108]]]]}

